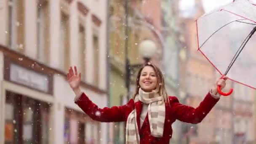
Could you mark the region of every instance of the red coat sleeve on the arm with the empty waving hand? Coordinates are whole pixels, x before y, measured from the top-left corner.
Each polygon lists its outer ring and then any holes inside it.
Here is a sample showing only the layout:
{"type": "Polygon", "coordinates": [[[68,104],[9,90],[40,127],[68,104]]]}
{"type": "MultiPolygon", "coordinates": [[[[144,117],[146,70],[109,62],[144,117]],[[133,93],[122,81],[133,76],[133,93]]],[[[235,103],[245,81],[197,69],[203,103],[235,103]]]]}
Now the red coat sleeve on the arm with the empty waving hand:
{"type": "Polygon", "coordinates": [[[123,106],[114,106],[111,108],[104,107],[99,108],[96,104],[94,104],[85,93],[82,93],[80,99],[75,101],[77,104],[89,117],[93,120],[100,122],[121,122],[125,121],[126,114],[129,114],[133,110],[133,99],[128,101],[128,104],[123,106]]]}

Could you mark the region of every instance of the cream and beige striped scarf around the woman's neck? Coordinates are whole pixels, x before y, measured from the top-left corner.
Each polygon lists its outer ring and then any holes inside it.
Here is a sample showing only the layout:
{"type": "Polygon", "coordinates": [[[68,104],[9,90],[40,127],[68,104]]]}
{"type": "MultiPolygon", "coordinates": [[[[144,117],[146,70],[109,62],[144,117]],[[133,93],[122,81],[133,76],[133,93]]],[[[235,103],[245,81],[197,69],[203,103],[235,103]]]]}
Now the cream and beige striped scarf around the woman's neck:
{"type": "MultiPolygon", "coordinates": [[[[134,102],[141,101],[148,106],[148,117],[151,135],[163,137],[163,127],[165,122],[165,102],[163,96],[159,96],[156,91],[146,93],[139,89],[139,94],[134,102]]],[[[125,144],[139,144],[139,130],[137,125],[136,109],[128,115],[125,131],[125,144]]],[[[142,124],[142,123],[141,123],[142,124]]]]}

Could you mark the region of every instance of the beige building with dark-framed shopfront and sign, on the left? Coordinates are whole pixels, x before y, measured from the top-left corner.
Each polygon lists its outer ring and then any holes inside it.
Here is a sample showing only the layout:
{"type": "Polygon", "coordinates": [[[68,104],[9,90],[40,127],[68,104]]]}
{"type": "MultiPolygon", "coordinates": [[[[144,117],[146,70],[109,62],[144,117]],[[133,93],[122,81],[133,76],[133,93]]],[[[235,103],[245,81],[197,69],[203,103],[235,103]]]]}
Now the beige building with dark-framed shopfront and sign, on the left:
{"type": "Polygon", "coordinates": [[[107,1],[1,0],[0,143],[107,144],[73,101],[67,69],[107,106],[107,1]]]}

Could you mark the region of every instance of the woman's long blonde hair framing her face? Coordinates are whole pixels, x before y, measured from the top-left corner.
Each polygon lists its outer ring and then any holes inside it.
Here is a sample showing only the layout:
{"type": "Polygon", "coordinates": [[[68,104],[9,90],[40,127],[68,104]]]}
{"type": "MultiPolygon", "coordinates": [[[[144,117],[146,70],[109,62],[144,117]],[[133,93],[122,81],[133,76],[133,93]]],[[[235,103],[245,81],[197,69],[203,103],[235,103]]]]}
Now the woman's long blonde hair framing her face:
{"type": "Polygon", "coordinates": [[[155,64],[151,64],[151,63],[144,64],[144,66],[139,69],[139,72],[138,72],[138,75],[137,75],[137,78],[136,78],[136,87],[135,87],[135,92],[133,94],[133,99],[135,99],[135,97],[139,94],[139,88],[141,87],[139,85],[139,79],[141,77],[141,71],[144,67],[147,67],[147,66],[152,67],[155,71],[155,74],[156,74],[156,77],[157,77],[157,88],[155,90],[157,91],[157,93],[160,96],[163,96],[164,102],[169,103],[168,94],[167,94],[166,89],[165,89],[165,80],[163,78],[163,73],[161,72],[161,70],[155,64]]]}

